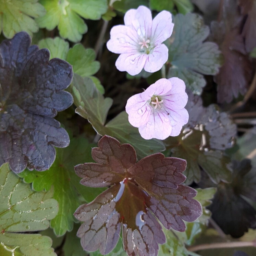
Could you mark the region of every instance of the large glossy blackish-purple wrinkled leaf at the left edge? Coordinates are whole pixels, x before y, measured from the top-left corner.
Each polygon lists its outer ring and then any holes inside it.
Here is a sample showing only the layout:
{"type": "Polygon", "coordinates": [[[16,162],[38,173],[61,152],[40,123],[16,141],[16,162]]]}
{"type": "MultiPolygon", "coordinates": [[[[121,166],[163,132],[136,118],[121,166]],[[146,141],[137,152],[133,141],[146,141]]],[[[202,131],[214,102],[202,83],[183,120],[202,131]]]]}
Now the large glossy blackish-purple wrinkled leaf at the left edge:
{"type": "Polygon", "coordinates": [[[68,133],[53,119],[70,107],[73,98],[64,89],[72,81],[72,66],[49,61],[47,49],[30,46],[20,32],[0,45],[0,164],[22,172],[49,169],[55,147],[69,145],[68,133]]]}

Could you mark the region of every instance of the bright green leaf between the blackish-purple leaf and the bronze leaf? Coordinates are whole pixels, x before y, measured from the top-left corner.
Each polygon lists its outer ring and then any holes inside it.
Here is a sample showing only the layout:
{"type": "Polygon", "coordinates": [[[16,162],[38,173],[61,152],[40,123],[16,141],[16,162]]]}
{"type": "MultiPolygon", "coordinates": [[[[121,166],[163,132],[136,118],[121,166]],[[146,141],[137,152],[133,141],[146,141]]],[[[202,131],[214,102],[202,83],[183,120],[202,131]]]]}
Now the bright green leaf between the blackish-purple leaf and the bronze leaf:
{"type": "Polygon", "coordinates": [[[89,144],[86,138],[73,138],[68,147],[56,150],[56,160],[49,170],[45,172],[25,170],[20,173],[25,182],[33,182],[32,186],[35,191],[49,190],[54,185],[53,198],[59,202],[59,212],[51,220],[51,227],[58,236],[73,229],[73,214],[81,205],[81,199],[77,192],[87,202],[90,202],[105,190],[81,185],[80,178],[74,171],[76,164],[93,161],[92,146],[95,145],[89,144]]]}

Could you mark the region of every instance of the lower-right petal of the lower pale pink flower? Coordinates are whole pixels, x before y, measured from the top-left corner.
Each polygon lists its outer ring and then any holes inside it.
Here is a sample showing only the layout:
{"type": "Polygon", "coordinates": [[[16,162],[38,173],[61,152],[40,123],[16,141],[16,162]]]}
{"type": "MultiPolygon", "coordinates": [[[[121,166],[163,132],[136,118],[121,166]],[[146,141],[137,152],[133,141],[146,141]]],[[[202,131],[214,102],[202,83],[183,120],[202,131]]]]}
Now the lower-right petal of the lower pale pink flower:
{"type": "Polygon", "coordinates": [[[188,112],[185,108],[180,110],[172,110],[165,107],[169,113],[168,118],[172,126],[170,136],[178,136],[181,132],[182,126],[188,122],[188,112]]]}

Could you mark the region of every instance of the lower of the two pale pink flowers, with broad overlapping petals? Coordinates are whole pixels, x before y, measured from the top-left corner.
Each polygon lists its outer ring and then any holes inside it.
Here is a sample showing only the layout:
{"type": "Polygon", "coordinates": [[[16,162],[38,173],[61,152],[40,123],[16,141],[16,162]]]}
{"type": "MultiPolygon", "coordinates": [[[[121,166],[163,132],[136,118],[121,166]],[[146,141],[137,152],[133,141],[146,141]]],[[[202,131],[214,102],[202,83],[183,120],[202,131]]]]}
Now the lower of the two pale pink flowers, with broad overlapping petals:
{"type": "Polygon", "coordinates": [[[188,122],[185,83],[178,77],[161,78],[145,92],[127,100],[125,107],[131,125],[144,139],[178,136],[188,122]]]}

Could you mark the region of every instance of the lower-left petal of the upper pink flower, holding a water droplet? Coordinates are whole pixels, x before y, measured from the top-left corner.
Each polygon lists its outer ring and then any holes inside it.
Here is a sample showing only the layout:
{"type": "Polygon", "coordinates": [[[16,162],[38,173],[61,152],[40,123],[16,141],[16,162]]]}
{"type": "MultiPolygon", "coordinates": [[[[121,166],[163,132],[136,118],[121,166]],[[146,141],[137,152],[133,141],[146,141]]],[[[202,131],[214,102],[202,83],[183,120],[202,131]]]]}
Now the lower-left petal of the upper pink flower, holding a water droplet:
{"type": "Polygon", "coordinates": [[[142,71],[147,56],[139,53],[123,53],[120,54],[115,66],[120,71],[127,71],[130,75],[137,75],[142,71]]]}

